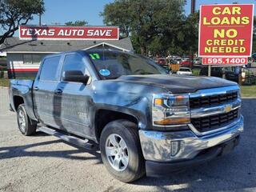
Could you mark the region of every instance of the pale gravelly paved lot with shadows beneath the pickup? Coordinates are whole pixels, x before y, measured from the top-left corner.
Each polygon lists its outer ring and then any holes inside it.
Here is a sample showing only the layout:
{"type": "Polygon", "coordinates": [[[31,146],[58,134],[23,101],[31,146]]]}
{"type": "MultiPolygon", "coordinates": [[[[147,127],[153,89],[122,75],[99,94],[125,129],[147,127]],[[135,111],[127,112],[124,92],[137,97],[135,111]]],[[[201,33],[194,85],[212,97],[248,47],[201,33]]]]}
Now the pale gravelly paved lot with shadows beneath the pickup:
{"type": "Polygon", "coordinates": [[[107,173],[98,151],[70,146],[58,138],[19,133],[0,88],[0,191],[256,191],[256,99],[244,99],[246,127],[240,146],[168,178],[118,182],[107,173]]]}

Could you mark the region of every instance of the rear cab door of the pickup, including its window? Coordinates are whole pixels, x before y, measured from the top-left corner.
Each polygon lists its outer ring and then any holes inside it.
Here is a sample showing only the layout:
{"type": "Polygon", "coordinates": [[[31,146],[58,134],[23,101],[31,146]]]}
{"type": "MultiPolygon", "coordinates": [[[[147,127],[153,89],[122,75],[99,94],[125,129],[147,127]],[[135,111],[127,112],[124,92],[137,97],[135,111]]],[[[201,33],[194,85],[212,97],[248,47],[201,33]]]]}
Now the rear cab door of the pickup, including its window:
{"type": "Polygon", "coordinates": [[[37,118],[46,125],[58,127],[54,118],[54,111],[58,107],[55,95],[61,71],[62,55],[54,55],[45,58],[34,82],[34,113],[37,118]]]}

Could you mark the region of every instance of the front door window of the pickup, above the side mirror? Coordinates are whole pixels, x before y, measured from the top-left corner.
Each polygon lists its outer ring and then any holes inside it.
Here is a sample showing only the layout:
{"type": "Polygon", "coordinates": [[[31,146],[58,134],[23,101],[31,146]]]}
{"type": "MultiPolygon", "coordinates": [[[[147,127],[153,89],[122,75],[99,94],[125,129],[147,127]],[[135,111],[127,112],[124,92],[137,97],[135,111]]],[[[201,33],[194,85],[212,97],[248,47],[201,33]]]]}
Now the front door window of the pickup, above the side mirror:
{"type": "Polygon", "coordinates": [[[78,54],[68,54],[64,60],[63,72],[66,70],[81,70],[85,73],[85,63],[82,61],[82,57],[78,54]]]}

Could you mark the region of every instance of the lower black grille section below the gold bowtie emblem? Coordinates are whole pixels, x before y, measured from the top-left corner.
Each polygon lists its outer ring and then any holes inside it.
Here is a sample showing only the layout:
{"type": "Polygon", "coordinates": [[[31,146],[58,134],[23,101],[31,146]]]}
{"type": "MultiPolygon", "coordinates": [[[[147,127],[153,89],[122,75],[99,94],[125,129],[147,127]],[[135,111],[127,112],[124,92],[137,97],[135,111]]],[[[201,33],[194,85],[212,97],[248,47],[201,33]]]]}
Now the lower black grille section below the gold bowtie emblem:
{"type": "Polygon", "coordinates": [[[230,122],[234,122],[237,118],[238,109],[231,110],[226,114],[210,115],[203,118],[191,118],[191,123],[199,132],[206,132],[226,126],[230,122]]]}

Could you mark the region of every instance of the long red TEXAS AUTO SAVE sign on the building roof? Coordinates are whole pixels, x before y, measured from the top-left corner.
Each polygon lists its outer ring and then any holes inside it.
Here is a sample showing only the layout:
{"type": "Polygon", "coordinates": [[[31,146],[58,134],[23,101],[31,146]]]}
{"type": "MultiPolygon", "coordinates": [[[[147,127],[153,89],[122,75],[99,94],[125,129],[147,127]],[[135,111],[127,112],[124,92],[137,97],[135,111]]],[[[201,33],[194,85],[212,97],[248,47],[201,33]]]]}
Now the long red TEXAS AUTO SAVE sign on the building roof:
{"type": "Polygon", "coordinates": [[[19,26],[20,39],[119,39],[119,29],[114,26],[19,26]]]}

